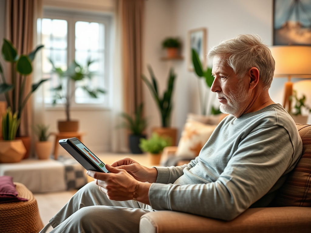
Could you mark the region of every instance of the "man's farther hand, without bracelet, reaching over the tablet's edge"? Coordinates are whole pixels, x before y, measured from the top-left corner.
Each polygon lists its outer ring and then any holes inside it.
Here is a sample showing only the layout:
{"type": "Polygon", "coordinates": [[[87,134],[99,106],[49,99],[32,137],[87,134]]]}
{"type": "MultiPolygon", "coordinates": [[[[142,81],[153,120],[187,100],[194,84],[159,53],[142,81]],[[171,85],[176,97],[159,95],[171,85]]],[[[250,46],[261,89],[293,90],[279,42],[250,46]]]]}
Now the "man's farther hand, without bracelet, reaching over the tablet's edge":
{"type": "Polygon", "coordinates": [[[114,162],[111,166],[118,169],[124,169],[136,180],[142,182],[155,183],[158,176],[158,170],[156,170],[156,168],[142,166],[131,158],[123,158],[114,162]]]}

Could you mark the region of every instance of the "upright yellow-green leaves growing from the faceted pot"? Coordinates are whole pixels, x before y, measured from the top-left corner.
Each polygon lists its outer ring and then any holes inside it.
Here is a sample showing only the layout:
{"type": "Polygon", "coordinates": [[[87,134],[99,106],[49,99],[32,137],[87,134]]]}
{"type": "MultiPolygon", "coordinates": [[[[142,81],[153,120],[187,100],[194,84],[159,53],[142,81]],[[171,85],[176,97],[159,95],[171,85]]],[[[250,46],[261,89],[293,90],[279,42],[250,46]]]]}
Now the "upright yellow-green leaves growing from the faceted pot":
{"type": "Polygon", "coordinates": [[[17,117],[17,112],[12,114],[11,107],[7,108],[7,112],[2,116],[2,137],[4,140],[14,140],[16,131],[21,119],[17,117]]]}

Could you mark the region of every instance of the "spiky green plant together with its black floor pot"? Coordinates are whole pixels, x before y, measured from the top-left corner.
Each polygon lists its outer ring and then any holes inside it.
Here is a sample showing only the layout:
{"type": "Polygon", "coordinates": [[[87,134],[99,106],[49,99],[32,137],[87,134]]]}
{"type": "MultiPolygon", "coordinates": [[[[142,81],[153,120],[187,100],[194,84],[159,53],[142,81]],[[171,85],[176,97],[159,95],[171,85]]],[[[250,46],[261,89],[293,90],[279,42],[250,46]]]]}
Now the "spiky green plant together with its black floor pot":
{"type": "Polygon", "coordinates": [[[139,148],[139,142],[141,138],[146,138],[143,131],[147,127],[147,120],[142,117],[142,108],[143,104],[141,103],[135,111],[134,117],[131,117],[125,112],[121,113],[121,116],[125,119],[125,121],[123,121],[119,127],[126,128],[131,132],[129,135],[129,145],[133,154],[142,153],[142,150],[139,148]]]}

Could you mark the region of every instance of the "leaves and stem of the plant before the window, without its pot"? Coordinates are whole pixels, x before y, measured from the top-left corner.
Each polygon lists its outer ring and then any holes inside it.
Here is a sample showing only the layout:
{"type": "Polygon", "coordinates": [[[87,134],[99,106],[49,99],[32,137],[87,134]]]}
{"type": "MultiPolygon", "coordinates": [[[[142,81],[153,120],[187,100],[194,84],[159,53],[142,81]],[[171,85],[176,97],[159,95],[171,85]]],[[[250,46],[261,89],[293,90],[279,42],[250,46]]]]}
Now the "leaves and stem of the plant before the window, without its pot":
{"type": "MultiPolygon", "coordinates": [[[[53,91],[53,102],[52,104],[55,105],[57,100],[66,100],[65,103],[65,111],[66,111],[66,118],[67,121],[70,121],[70,104],[71,99],[74,96],[76,86],[72,88],[72,82],[83,80],[84,78],[88,78],[91,80],[92,76],[94,75],[93,72],[89,71],[89,66],[95,62],[88,59],[86,68],[83,68],[80,64],[76,61],[72,62],[72,64],[68,67],[66,71],[63,71],[61,68],[57,68],[54,66],[53,61],[50,59],[50,62],[53,67],[53,72],[56,73],[59,77],[59,84],[55,88],[52,88],[53,91]],[[64,88],[64,82],[66,83],[66,88],[64,88]]],[[[97,98],[98,94],[106,93],[104,90],[100,88],[91,89],[88,85],[82,86],[82,89],[86,91],[92,98],[97,98]]]]}

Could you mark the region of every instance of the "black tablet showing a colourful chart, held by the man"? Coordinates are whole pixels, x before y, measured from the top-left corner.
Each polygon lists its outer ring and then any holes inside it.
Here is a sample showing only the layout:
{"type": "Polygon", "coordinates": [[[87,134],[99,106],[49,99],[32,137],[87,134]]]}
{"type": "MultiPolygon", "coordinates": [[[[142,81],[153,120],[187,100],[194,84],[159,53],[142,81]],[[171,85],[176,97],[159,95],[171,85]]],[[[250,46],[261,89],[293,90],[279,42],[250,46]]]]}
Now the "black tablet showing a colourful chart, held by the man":
{"type": "Polygon", "coordinates": [[[60,139],[59,144],[75,158],[86,170],[109,173],[106,165],[100,161],[82,142],[77,138],[60,139]]]}

